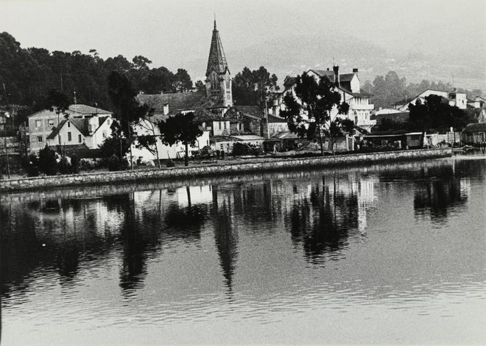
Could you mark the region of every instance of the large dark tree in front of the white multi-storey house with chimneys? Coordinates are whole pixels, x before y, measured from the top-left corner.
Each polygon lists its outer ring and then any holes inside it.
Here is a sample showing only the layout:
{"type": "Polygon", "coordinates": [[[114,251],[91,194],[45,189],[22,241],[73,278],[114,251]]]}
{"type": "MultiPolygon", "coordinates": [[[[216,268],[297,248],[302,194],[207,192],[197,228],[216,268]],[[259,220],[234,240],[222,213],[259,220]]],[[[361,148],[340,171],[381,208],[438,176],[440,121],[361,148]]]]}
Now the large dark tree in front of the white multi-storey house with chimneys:
{"type": "Polygon", "coordinates": [[[291,92],[285,95],[287,110],[280,112],[287,119],[291,132],[310,140],[319,138],[321,155],[324,155],[322,134],[326,134],[334,153],[335,140],[351,126],[349,121],[339,117],[348,114],[348,103],[341,102],[341,94],[335,91],[335,85],[327,77],[317,81],[305,72],[297,76],[295,95],[297,99],[291,92]]]}

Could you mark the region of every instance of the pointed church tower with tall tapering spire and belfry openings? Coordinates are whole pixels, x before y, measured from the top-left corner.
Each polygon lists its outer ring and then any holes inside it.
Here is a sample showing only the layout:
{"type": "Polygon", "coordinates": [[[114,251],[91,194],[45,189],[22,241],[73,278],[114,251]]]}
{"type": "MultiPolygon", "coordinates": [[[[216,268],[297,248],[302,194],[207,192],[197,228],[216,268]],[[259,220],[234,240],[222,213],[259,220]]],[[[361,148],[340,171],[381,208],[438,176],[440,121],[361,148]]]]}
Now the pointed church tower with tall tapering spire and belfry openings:
{"type": "Polygon", "coordinates": [[[215,28],[212,30],[211,48],[209,50],[208,69],[206,69],[206,93],[212,108],[233,106],[231,83],[230,70],[228,69],[215,20],[215,28]]]}

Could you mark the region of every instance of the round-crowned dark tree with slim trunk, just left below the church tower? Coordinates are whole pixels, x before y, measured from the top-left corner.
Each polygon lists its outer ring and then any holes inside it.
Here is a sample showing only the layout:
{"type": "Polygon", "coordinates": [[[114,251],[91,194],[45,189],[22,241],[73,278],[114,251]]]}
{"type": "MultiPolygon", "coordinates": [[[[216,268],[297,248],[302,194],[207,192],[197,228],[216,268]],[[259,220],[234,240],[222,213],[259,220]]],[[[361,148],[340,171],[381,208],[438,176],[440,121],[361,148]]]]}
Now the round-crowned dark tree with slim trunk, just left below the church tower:
{"type": "Polygon", "coordinates": [[[189,145],[195,145],[197,137],[202,135],[199,124],[192,112],[170,116],[166,121],[158,124],[162,134],[162,142],[167,145],[182,143],[185,147],[184,165],[189,165],[189,145]]]}

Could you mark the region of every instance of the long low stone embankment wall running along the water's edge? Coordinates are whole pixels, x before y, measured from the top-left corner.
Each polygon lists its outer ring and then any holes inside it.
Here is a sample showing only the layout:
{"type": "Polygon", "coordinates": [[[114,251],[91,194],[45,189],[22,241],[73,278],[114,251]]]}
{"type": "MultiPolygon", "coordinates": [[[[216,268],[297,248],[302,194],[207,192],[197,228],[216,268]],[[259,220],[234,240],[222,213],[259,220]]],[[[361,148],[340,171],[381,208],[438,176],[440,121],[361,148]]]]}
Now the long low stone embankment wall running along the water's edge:
{"type": "Polygon", "coordinates": [[[381,153],[359,153],[319,158],[294,158],[287,160],[261,160],[260,162],[191,166],[174,169],[152,169],[146,171],[96,172],[78,175],[56,175],[51,177],[25,177],[13,180],[0,180],[0,192],[19,190],[43,190],[66,186],[95,186],[144,182],[149,180],[186,180],[195,177],[217,175],[237,175],[243,173],[286,171],[290,169],[313,169],[331,166],[353,166],[393,162],[400,160],[424,160],[452,156],[451,149],[420,149],[388,151],[381,153]]]}

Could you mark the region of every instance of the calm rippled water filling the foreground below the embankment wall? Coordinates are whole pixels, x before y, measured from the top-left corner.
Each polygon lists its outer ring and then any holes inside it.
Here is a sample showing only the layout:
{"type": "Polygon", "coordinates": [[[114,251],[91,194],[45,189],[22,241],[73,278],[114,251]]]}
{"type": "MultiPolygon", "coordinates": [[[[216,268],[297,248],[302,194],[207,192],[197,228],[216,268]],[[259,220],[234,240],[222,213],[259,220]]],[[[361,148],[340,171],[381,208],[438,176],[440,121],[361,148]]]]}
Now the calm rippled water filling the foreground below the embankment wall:
{"type": "Polygon", "coordinates": [[[484,345],[485,177],[480,154],[2,195],[2,345],[484,345]]]}

